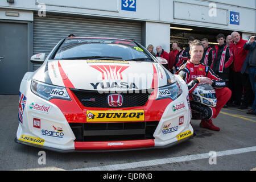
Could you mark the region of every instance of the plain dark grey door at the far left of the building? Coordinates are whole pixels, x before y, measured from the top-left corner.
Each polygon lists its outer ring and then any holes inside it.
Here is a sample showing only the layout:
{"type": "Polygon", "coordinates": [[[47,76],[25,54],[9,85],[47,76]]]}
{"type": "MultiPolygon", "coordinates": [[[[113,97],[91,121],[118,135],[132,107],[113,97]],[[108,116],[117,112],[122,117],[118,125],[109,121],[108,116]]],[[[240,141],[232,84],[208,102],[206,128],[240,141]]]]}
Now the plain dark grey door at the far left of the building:
{"type": "Polygon", "coordinates": [[[19,94],[28,69],[28,24],[0,22],[0,94],[19,94]]]}

